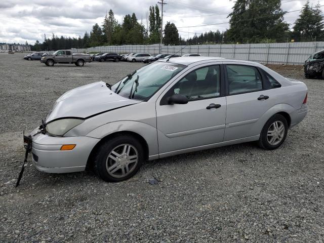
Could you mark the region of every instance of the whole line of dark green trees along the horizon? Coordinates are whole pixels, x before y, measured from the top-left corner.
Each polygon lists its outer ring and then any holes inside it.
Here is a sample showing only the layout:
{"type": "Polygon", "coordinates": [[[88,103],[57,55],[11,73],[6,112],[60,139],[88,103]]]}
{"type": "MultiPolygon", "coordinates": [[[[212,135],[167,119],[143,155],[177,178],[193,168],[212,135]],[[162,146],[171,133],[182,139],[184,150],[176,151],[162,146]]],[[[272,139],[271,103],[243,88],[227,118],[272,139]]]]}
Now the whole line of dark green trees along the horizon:
{"type": "MultiPolygon", "coordinates": [[[[280,0],[236,0],[228,15],[229,29],[194,34],[181,38],[174,23],[167,22],[163,30],[164,45],[199,45],[226,43],[273,43],[289,41],[317,41],[324,39],[324,19],[319,3],[311,6],[307,1],[292,29],[284,21],[287,12],[282,11],[280,0]]],[[[89,48],[109,45],[148,45],[160,42],[161,17],[157,5],[149,7],[146,25],[136,14],[125,15],[118,23],[112,10],[103,23],[94,24],[90,32],[81,37],[51,38],[44,35],[43,43],[36,41],[32,50],[58,50],[89,48]]]]}

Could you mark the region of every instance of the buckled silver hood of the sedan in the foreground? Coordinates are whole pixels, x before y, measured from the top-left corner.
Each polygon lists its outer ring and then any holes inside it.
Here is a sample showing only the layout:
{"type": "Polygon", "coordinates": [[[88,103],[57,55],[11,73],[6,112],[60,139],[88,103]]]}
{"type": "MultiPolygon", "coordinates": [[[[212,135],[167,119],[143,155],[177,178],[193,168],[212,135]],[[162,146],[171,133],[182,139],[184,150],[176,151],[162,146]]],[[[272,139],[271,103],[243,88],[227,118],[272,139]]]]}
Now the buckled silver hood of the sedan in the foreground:
{"type": "Polygon", "coordinates": [[[97,82],[64,93],[55,101],[46,122],[62,117],[86,118],[139,102],[117,95],[107,88],[106,83],[97,82]]]}

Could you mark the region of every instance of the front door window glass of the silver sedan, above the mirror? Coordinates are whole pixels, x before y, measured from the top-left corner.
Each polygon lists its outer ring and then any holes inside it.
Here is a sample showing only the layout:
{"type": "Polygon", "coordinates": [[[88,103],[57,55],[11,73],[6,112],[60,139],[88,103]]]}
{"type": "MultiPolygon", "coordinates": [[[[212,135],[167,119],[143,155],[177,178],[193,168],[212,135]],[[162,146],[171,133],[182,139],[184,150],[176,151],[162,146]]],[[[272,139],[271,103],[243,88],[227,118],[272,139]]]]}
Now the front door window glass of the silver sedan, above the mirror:
{"type": "Polygon", "coordinates": [[[220,95],[219,65],[196,69],[171,88],[171,94],[185,95],[188,100],[206,99],[220,95]]]}

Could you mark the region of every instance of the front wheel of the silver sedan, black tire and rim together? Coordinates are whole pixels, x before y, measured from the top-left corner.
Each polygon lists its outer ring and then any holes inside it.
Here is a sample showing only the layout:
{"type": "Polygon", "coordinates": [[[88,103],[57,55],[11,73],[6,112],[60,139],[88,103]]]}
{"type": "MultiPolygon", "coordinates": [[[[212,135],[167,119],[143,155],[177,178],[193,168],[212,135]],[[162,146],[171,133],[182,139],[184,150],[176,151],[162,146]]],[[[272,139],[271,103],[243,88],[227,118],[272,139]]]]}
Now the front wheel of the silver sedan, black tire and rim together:
{"type": "Polygon", "coordinates": [[[99,146],[94,160],[96,174],[108,182],[134,176],[145,157],[142,144],[130,135],[116,135],[99,146]]]}

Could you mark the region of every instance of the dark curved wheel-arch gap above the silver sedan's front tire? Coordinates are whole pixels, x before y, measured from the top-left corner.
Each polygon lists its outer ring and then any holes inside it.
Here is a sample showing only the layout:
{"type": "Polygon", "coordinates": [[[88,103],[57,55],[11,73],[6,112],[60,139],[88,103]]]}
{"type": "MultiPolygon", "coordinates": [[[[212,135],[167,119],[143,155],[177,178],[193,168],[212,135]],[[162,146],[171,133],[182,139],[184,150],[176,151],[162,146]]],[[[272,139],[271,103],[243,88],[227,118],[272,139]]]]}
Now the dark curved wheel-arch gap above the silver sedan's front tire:
{"type": "Polygon", "coordinates": [[[128,136],[132,136],[135,139],[137,139],[138,141],[140,141],[141,144],[143,144],[143,149],[144,149],[144,157],[146,160],[148,160],[148,154],[149,154],[149,149],[148,149],[148,143],[146,142],[146,140],[138,133],[132,132],[132,131],[118,131],[118,132],[114,132],[111,134],[106,135],[105,137],[103,137],[91,150],[88,160],[87,160],[87,165],[86,165],[86,169],[92,169],[94,166],[94,158],[96,155],[96,152],[98,150],[98,148],[101,146],[101,144],[103,144],[104,142],[106,142],[107,140],[113,138],[114,136],[117,135],[128,135],[128,136]]]}

